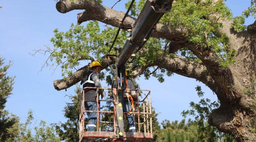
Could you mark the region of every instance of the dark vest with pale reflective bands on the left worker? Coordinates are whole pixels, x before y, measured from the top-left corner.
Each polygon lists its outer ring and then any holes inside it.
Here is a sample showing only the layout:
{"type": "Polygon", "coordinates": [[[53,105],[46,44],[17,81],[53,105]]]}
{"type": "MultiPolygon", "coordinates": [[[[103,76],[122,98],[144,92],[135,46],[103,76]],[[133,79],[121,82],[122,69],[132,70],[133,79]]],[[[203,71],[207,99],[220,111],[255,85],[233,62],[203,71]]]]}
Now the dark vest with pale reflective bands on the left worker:
{"type": "MultiPolygon", "coordinates": [[[[95,87],[94,81],[92,80],[91,75],[93,73],[96,73],[94,71],[89,71],[89,73],[87,73],[87,75],[84,78],[84,85],[83,88],[85,87],[95,87]]],[[[89,101],[96,101],[96,90],[97,89],[92,89],[92,88],[86,88],[85,89],[85,102],[89,102],[89,101]]]]}

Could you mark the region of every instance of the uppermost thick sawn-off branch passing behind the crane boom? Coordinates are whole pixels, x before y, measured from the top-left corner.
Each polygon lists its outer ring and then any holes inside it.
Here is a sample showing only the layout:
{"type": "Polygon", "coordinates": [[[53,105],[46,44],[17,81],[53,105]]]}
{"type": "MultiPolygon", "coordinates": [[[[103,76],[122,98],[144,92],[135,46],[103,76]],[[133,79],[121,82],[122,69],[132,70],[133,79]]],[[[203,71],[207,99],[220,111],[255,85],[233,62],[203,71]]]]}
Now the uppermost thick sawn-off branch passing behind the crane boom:
{"type": "MultiPolygon", "coordinates": [[[[84,9],[85,12],[78,13],[79,24],[88,20],[97,20],[114,27],[119,27],[119,20],[123,19],[123,16],[125,15],[125,12],[113,10],[91,0],[76,0],[75,2],[63,0],[56,4],[56,8],[61,13],[69,12],[75,9],[84,9]]],[[[128,15],[124,21],[124,24],[132,25],[135,20],[136,19],[134,17],[128,15]]],[[[156,29],[153,31],[151,37],[165,38],[176,41],[186,40],[183,36],[186,32],[187,30],[182,27],[175,29],[170,25],[158,23],[156,24],[156,29]]]]}

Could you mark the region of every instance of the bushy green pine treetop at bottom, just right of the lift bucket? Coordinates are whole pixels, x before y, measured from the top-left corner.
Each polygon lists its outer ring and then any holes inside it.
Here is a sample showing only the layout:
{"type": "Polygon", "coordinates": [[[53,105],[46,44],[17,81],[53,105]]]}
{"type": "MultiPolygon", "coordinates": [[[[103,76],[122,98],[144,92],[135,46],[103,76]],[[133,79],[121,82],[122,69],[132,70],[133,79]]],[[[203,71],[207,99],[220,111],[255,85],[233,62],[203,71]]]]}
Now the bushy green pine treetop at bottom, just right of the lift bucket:
{"type": "Polygon", "coordinates": [[[217,131],[214,127],[204,121],[203,126],[196,125],[194,121],[182,119],[170,123],[169,120],[161,122],[162,129],[156,142],[236,142],[236,140],[225,133],[217,131]]]}

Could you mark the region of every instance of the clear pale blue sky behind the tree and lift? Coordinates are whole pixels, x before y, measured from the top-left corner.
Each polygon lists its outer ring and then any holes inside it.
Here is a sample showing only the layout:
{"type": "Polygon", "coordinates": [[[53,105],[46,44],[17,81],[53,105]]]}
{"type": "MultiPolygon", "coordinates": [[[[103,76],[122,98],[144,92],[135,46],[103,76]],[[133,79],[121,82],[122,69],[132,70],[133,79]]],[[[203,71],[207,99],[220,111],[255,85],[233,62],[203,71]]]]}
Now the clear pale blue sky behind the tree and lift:
{"type": "MultiPolygon", "coordinates": [[[[107,5],[112,6],[116,1],[108,0],[107,5]]],[[[239,16],[250,6],[250,0],[228,0],[226,4],[234,16],[239,16]]],[[[46,121],[47,124],[64,122],[66,119],[62,110],[65,102],[70,102],[65,94],[75,94],[75,87],[68,88],[66,92],[56,91],[53,81],[62,78],[60,69],[53,73],[53,69],[44,67],[42,72],[39,72],[47,56],[32,56],[29,53],[33,53],[33,50],[46,49],[45,45],[53,47],[50,43],[50,38],[54,35],[53,30],[58,28],[59,31],[67,31],[71,23],[77,22],[77,13],[81,10],[59,13],[54,0],[8,0],[1,1],[0,6],[0,55],[6,58],[6,63],[13,61],[8,75],[16,76],[13,94],[8,98],[5,109],[19,116],[21,122],[25,122],[29,109],[33,110],[37,124],[40,120],[46,121]]],[[[246,25],[253,22],[254,19],[250,17],[246,20],[246,25]]],[[[82,23],[84,26],[85,24],[82,23]]],[[[153,107],[156,113],[160,113],[159,122],[165,119],[183,119],[181,111],[190,109],[191,101],[199,100],[194,89],[197,85],[202,86],[205,97],[217,99],[208,87],[192,78],[174,75],[166,77],[165,80],[164,83],[159,83],[155,78],[144,80],[142,77],[137,80],[140,88],[151,90],[153,107]]],[[[102,86],[106,86],[105,82],[102,82],[102,86]]]]}

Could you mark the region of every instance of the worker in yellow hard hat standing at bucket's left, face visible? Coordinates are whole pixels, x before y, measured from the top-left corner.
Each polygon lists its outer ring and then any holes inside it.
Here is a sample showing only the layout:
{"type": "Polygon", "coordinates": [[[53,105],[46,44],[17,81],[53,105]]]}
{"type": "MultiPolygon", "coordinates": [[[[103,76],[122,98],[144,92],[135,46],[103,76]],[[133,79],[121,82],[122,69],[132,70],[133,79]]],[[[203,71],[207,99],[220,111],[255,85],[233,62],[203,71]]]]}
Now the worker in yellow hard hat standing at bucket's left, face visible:
{"type": "MultiPolygon", "coordinates": [[[[98,87],[101,88],[101,83],[99,80],[99,73],[101,71],[101,64],[98,61],[93,61],[90,65],[91,70],[87,73],[83,80],[83,88],[85,87],[98,87]]],[[[84,93],[85,98],[85,110],[97,111],[97,89],[86,88],[84,93]]],[[[98,94],[101,95],[101,99],[104,97],[103,90],[98,89],[98,94]]],[[[96,112],[87,112],[88,116],[88,131],[95,131],[97,122],[96,112]]]]}

